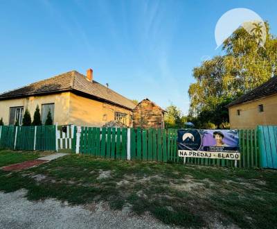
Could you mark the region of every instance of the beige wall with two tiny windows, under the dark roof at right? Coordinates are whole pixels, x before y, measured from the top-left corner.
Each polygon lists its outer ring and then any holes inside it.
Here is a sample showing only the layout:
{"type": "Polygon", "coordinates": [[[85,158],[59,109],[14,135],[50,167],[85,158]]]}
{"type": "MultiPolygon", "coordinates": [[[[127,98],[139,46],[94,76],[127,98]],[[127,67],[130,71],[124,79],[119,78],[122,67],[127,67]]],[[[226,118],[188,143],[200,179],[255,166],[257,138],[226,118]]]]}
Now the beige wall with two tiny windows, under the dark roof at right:
{"type": "Polygon", "coordinates": [[[258,125],[277,125],[277,94],[263,99],[242,103],[229,108],[230,127],[256,128],[258,125]],[[264,112],[258,112],[263,104],[264,112]],[[240,115],[237,114],[240,110],[240,115]]]}

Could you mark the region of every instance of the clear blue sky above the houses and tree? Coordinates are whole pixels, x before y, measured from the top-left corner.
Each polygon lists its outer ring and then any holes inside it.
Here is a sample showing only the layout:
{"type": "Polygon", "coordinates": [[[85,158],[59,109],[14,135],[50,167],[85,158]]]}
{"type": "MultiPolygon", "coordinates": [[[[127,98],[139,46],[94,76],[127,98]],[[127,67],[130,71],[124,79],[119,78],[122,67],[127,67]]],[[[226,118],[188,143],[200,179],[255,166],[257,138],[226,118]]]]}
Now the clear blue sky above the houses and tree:
{"type": "Polygon", "coordinates": [[[0,92],[73,69],[129,99],[186,114],[193,67],[224,12],[249,8],[277,35],[277,1],[0,1],[0,92]]]}

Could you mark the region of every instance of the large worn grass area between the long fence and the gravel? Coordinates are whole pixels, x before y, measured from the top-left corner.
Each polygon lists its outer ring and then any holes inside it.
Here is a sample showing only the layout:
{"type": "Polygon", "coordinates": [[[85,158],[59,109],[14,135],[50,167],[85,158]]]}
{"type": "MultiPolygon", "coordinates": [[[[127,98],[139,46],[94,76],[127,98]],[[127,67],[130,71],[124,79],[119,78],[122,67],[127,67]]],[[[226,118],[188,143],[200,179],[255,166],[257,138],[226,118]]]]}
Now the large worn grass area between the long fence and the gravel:
{"type": "Polygon", "coordinates": [[[0,189],[28,190],[30,200],[109,203],[150,212],[169,225],[276,228],[277,171],[157,162],[123,162],[67,155],[21,172],[0,171],[0,189]],[[37,179],[39,178],[39,179],[37,179]]]}

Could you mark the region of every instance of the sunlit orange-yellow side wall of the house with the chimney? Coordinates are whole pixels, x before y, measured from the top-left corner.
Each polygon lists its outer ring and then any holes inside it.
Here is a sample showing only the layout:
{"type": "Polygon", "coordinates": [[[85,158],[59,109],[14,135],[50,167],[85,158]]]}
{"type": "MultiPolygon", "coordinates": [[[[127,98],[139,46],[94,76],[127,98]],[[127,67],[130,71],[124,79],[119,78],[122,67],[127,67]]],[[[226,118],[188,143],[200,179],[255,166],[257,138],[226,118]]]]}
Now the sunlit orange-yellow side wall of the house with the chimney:
{"type": "Polygon", "coordinates": [[[70,94],[69,123],[78,126],[103,126],[108,121],[114,121],[115,112],[127,114],[127,126],[132,125],[132,111],[116,105],[102,103],[91,99],[70,94]]]}

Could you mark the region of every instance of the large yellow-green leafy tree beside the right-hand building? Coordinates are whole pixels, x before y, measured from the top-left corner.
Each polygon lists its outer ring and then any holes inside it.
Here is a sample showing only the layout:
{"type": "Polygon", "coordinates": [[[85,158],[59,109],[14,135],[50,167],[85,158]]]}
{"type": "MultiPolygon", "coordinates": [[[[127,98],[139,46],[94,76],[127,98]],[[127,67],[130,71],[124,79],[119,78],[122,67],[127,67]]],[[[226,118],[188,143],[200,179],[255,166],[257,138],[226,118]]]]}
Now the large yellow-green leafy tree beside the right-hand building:
{"type": "MultiPolygon", "coordinates": [[[[196,82],[188,90],[191,116],[211,112],[214,117],[226,108],[223,104],[277,74],[277,39],[269,33],[269,24],[266,23],[264,46],[261,46],[260,25],[254,25],[253,31],[256,33],[250,35],[244,28],[238,28],[225,40],[222,56],[206,60],[193,69],[196,82]]],[[[226,109],[224,112],[226,114],[226,109]]],[[[225,114],[220,114],[217,120],[226,121],[225,114]]],[[[212,118],[208,121],[219,126],[212,118]]]]}

